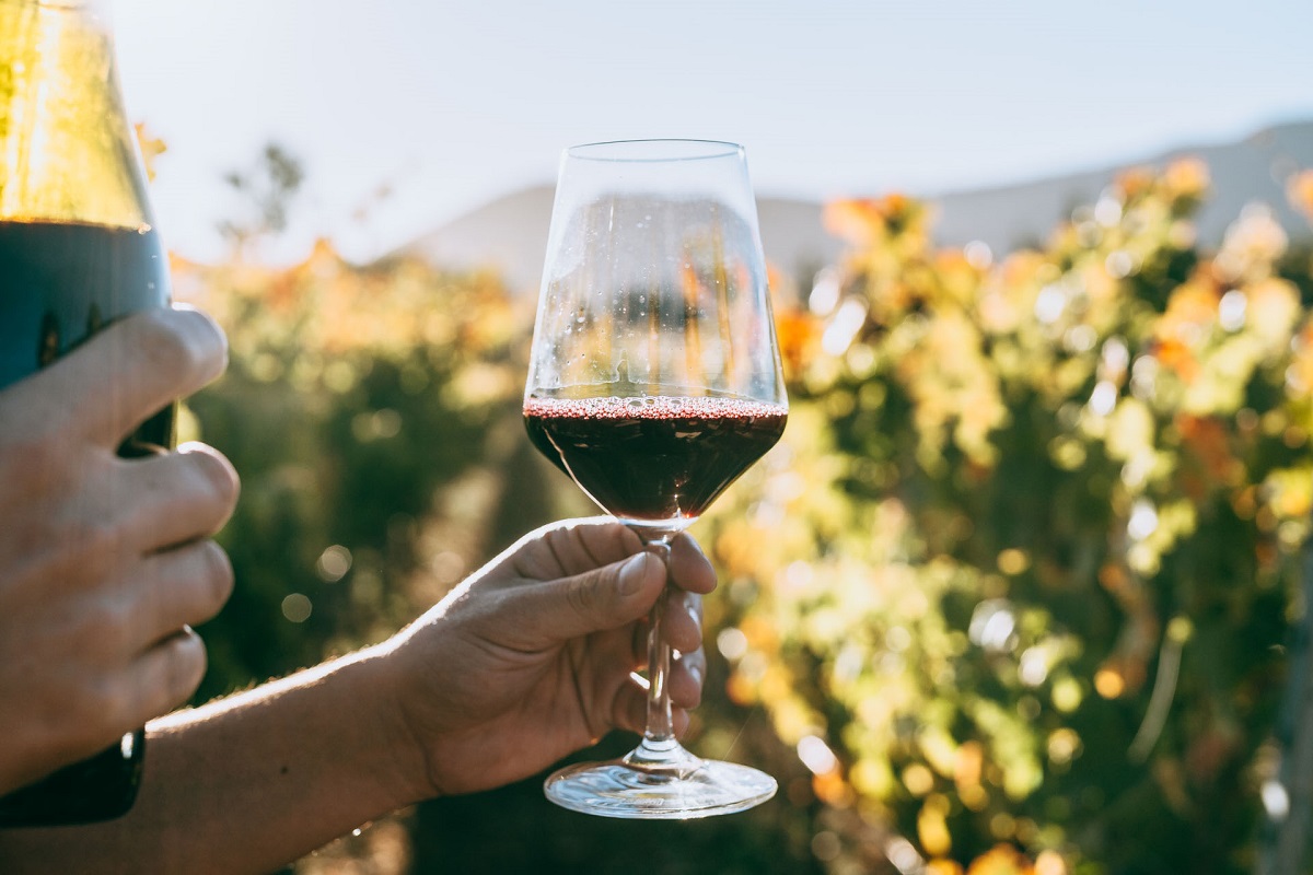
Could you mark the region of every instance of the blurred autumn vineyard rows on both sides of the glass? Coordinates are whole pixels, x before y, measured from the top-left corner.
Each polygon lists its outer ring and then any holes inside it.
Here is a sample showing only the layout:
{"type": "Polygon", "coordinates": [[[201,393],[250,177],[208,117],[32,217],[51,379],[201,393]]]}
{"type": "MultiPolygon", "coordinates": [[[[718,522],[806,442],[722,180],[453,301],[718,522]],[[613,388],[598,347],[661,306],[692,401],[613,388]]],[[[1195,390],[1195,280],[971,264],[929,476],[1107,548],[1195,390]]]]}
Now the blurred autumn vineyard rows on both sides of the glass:
{"type": "MultiPolygon", "coordinates": [[[[530,781],[297,871],[1296,871],[1262,867],[1301,857],[1313,805],[1313,249],[1260,207],[1205,248],[1207,197],[1197,161],[1128,172],[1008,253],[936,247],[914,199],[842,201],[843,260],[772,274],[790,418],[695,529],[721,586],[689,744],[776,774],[773,803],[597,823],[530,781]]],[[[1289,197],[1313,219],[1313,173],[1289,197]]],[[[173,264],[232,353],[185,437],[244,484],[201,699],[377,641],[592,513],[524,436],[532,300],[327,243],[244,257],[276,231],[173,264]]]]}

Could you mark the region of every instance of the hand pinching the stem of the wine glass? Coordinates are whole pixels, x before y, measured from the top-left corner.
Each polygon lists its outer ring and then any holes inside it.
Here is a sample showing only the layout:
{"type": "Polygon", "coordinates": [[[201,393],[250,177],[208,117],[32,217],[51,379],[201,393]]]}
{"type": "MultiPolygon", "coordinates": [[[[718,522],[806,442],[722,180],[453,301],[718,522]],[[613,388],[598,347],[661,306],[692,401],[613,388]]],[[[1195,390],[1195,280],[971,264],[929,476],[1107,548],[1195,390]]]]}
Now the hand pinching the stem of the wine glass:
{"type": "Polygon", "coordinates": [[[389,644],[393,697],[416,752],[412,799],[496,787],[545,769],[612,728],[641,731],[647,614],[667,579],[663,631],[680,657],[676,732],[701,699],[701,594],[716,573],[679,535],[668,567],[628,527],[579,519],[540,529],[473,575],[389,644]]]}

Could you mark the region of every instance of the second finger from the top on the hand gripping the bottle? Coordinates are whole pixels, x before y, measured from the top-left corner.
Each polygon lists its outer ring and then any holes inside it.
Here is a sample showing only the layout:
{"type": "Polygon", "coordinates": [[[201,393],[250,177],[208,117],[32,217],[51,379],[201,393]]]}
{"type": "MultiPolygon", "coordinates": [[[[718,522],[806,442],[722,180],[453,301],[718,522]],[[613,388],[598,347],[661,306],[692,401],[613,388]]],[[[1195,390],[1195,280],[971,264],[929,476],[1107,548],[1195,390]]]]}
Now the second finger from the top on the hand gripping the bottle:
{"type": "Polygon", "coordinates": [[[125,460],[121,489],[135,496],[123,534],[143,552],[213,535],[227,522],[240,489],[232,464],[202,443],[125,460]]]}

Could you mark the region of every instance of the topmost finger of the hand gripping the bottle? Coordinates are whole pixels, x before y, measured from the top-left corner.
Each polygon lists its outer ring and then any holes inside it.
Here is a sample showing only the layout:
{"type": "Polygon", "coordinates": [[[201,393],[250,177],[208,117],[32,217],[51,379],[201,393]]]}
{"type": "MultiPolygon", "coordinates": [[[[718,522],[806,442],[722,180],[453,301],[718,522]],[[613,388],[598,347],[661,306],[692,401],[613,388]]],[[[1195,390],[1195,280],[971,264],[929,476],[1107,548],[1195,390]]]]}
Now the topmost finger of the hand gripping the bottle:
{"type": "MultiPolygon", "coordinates": [[[[223,373],[227,341],[198,310],[117,321],[18,386],[62,429],[116,447],[140,422],[223,373]]],[[[38,415],[39,416],[39,415],[38,415]]]]}

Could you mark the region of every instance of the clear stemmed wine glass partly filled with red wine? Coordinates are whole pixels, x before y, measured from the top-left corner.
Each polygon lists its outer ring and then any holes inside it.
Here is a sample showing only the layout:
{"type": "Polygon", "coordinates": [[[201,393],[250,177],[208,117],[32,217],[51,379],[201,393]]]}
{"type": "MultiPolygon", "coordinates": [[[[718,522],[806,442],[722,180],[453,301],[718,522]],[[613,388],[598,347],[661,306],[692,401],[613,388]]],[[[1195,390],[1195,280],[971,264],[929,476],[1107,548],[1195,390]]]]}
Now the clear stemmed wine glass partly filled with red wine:
{"type": "MultiPolygon", "coordinates": [[[[566,150],[524,394],[533,443],[649,550],[666,551],[779,441],[788,417],[743,148],[629,140],[566,150]]],[[[670,589],[667,588],[667,594],[670,589]]],[[[651,614],[647,727],[561,769],[559,805],[689,819],[765,802],[769,775],[675,739],[671,649],[651,614]]]]}

